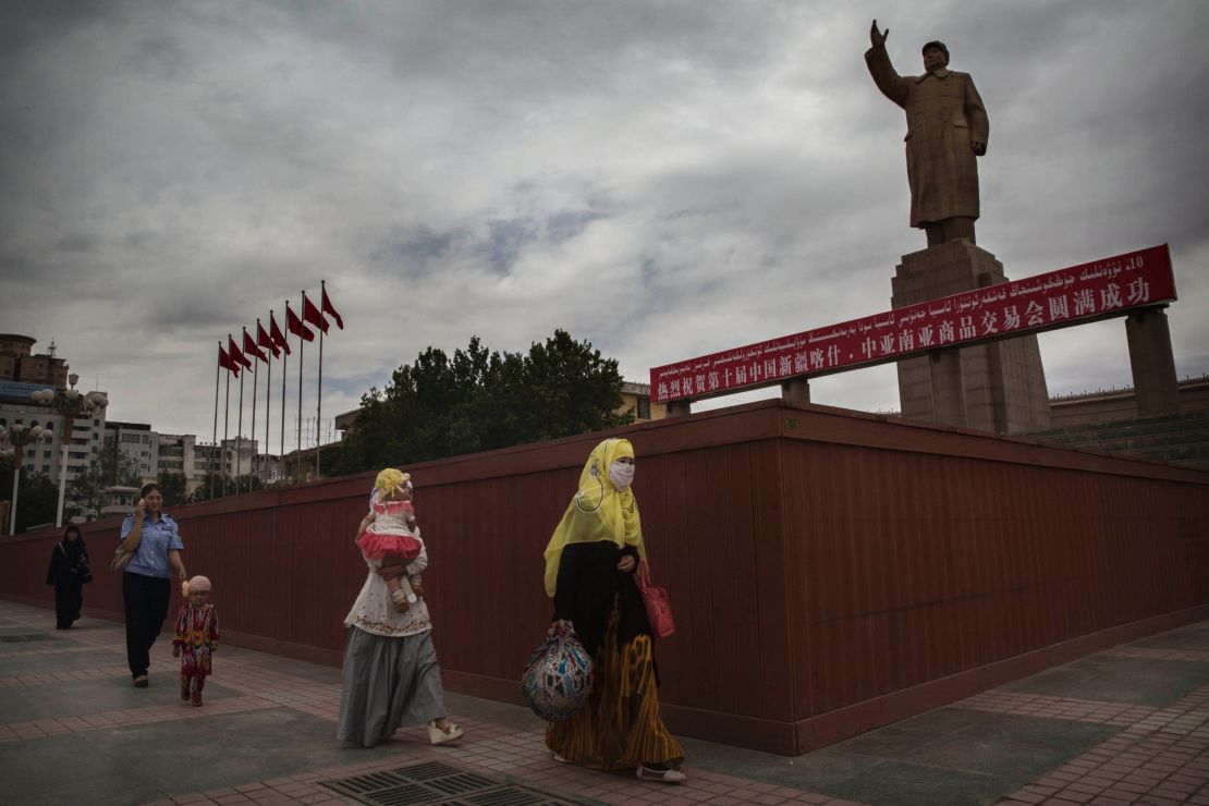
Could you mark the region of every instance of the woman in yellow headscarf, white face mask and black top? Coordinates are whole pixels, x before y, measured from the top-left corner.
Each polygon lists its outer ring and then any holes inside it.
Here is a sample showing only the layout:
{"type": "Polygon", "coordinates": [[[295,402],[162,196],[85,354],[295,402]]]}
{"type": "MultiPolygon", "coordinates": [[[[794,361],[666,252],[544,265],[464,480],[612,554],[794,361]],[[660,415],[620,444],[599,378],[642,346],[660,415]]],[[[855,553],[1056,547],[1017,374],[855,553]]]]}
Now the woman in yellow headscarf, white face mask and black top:
{"type": "Polygon", "coordinates": [[[588,702],[569,719],[550,723],[545,743],[560,761],[636,767],[640,778],[677,783],[684,779],[684,750],[659,718],[650,625],[634,579],[647,557],[630,488],[634,471],[629,440],[597,445],[545,547],[554,621],[574,626],[595,665],[588,702]]]}

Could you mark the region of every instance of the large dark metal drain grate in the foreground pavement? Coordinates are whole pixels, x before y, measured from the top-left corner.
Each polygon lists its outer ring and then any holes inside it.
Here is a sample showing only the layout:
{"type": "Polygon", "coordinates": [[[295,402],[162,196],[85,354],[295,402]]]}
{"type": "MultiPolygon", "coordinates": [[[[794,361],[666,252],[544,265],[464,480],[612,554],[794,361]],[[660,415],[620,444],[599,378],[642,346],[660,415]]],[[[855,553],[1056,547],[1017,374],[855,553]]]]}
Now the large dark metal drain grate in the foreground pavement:
{"type": "Polygon", "coordinates": [[[571,806],[577,801],[554,798],[502,778],[463,770],[441,761],[370,772],[322,782],[371,806],[571,806]]]}

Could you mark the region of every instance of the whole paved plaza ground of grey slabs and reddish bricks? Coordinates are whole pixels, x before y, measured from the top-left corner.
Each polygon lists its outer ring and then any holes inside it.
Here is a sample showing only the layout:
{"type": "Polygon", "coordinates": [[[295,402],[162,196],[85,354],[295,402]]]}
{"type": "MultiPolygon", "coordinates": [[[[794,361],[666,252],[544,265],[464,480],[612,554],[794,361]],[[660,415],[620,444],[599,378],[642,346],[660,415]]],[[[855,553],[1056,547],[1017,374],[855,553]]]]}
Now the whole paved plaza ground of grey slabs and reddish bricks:
{"type": "Polygon", "coordinates": [[[339,669],[237,646],[192,708],[169,644],[135,689],[121,625],[0,601],[0,802],[1209,806],[1209,621],[797,758],[684,740],[682,785],[557,764],[525,708],[453,694],[458,746],[346,746],[339,669]]]}

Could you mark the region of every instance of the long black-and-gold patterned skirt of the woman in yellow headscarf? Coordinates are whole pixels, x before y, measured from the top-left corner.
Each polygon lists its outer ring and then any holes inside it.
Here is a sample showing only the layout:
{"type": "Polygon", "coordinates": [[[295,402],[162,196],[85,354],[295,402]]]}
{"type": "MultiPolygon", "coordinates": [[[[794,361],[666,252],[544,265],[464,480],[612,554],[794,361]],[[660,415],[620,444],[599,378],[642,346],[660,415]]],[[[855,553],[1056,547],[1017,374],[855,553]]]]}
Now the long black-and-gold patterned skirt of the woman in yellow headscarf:
{"type": "Polygon", "coordinates": [[[594,662],[588,702],[569,719],[546,726],[546,747],[592,770],[624,770],[640,764],[678,767],[684,749],[659,718],[650,636],[618,646],[614,608],[594,662]]]}

